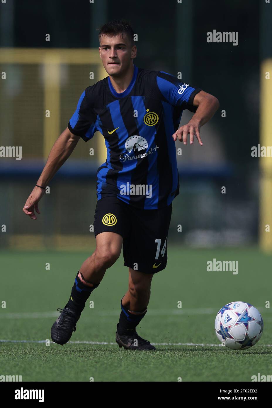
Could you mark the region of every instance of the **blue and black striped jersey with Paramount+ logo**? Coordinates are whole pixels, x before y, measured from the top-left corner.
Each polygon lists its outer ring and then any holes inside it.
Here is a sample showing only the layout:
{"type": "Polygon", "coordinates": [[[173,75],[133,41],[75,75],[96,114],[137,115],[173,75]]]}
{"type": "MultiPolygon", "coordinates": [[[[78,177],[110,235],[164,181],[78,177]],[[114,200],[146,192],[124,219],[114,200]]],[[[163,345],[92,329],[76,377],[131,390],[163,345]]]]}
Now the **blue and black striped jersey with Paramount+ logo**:
{"type": "Polygon", "coordinates": [[[143,209],[171,204],[179,194],[172,135],[182,111],[196,111],[193,99],[200,90],[169,73],[136,66],[122,93],[109,77],[86,88],[68,128],[86,142],[96,131],[105,137],[107,159],[97,171],[98,200],[114,195],[143,209]]]}

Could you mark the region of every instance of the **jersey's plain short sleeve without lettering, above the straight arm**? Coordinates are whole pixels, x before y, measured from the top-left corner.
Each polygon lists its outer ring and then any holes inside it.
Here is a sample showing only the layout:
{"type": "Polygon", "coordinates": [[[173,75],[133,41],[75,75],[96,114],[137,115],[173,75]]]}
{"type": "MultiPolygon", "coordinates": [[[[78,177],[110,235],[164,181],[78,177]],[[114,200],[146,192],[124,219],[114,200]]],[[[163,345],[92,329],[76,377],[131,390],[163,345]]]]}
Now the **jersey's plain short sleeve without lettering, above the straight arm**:
{"type": "Polygon", "coordinates": [[[69,120],[68,129],[71,133],[81,136],[85,142],[92,139],[97,131],[95,122],[97,114],[90,104],[90,98],[87,93],[88,88],[81,94],[77,103],[77,109],[69,120]]]}

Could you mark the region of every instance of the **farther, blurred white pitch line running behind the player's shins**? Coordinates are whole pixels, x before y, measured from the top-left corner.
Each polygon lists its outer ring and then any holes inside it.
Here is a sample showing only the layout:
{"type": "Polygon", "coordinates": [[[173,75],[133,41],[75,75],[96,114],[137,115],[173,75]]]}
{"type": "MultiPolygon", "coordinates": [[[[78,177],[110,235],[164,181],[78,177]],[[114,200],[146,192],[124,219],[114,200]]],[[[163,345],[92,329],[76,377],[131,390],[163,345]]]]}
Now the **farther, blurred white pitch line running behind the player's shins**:
{"type": "MultiPolygon", "coordinates": [[[[88,309],[88,307],[86,306],[88,309]]],[[[263,313],[265,311],[268,311],[268,309],[265,308],[258,308],[258,310],[263,313]]],[[[196,308],[196,309],[148,309],[147,313],[148,316],[169,316],[169,315],[175,315],[175,316],[180,316],[180,315],[214,315],[216,316],[216,313],[219,310],[217,309],[211,309],[211,308],[196,308]]],[[[93,316],[119,316],[120,311],[119,310],[99,310],[96,311],[94,309],[90,310],[90,313],[93,316]]],[[[26,312],[26,313],[4,313],[3,311],[0,312],[0,319],[40,319],[40,318],[47,318],[47,317],[57,317],[59,316],[59,312],[56,310],[53,312],[26,312]]],[[[86,317],[86,316],[84,316],[86,317]]]]}

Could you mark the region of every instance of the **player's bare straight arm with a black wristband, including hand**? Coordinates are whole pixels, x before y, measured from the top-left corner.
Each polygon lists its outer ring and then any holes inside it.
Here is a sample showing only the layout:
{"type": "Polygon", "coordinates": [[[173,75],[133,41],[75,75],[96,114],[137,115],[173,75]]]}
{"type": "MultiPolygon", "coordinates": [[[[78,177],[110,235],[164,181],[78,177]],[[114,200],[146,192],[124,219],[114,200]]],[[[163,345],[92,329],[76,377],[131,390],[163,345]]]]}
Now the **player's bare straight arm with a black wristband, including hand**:
{"type": "MultiPolygon", "coordinates": [[[[59,168],[64,164],[72,151],[75,149],[79,139],[80,136],[71,133],[68,127],[61,133],[49,153],[46,165],[44,166],[42,174],[37,181],[38,186],[46,187],[48,185],[59,168]]],[[[35,186],[26,200],[23,211],[26,215],[29,215],[32,220],[37,220],[34,209],[38,214],[40,213],[38,202],[41,200],[44,193],[44,188],[35,186]]]]}

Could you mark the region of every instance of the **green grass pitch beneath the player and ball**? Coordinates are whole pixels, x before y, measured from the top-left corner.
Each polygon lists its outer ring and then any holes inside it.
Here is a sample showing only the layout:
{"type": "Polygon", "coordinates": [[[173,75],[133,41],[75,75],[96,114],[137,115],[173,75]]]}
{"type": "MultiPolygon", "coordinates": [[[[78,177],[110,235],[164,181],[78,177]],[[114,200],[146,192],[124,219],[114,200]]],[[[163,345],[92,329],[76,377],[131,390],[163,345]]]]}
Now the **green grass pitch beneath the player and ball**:
{"type": "Polygon", "coordinates": [[[122,254],[89,298],[94,308],[87,302],[72,343],[38,343],[50,339],[56,309],[65,306],[75,275],[91,253],[37,253],[34,248],[28,253],[0,253],[0,305],[6,302],[6,308],[0,307],[0,339],[28,341],[0,342],[0,375],[22,375],[22,381],[178,381],[180,377],[252,381],[258,373],[271,375],[272,316],[265,302],[271,300],[272,256],[257,248],[199,250],[168,245],[167,268],[154,276],[148,312],[137,327],[141,337],[157,344],[154,353],[119,349],[115,343],[128,281],[122,254]],[[239,273],[207,272],[206,262],[213,258],[239,261],[239,273]],[[259,343],[244,351],[212,346],[219,344],[215,315],[234,301],[257,307],[264,321],[259,343]]]}

